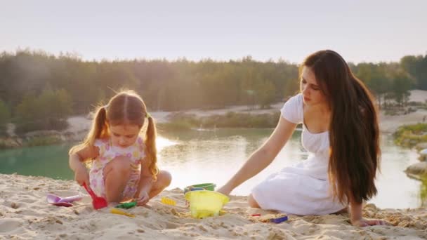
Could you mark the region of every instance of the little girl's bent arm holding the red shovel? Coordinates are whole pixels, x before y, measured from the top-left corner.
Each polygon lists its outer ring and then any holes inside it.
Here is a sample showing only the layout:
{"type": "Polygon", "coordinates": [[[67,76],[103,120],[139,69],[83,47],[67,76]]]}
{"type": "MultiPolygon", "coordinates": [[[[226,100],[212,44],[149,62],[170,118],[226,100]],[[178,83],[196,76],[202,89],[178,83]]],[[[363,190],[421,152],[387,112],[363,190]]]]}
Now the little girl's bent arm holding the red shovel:
{"type": "Polygon", "coordinates": [[[70,154],[70,159],[68,163],[70,164],[70,168],[74,171],[74,180],[76,180],[79,185],[83,185],[86,183],[86,186],[89,187],[89,175],[84,166],[84,161],[88,159],[96,159],[99,151],[98,147],[86,146],[82,149],[79,149],[77,152],[70,154]]]}

